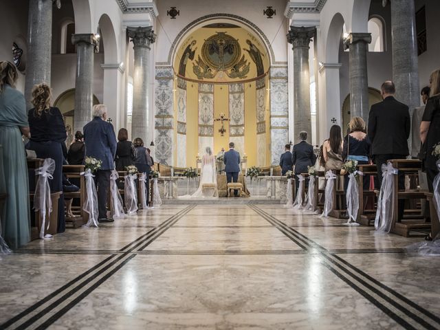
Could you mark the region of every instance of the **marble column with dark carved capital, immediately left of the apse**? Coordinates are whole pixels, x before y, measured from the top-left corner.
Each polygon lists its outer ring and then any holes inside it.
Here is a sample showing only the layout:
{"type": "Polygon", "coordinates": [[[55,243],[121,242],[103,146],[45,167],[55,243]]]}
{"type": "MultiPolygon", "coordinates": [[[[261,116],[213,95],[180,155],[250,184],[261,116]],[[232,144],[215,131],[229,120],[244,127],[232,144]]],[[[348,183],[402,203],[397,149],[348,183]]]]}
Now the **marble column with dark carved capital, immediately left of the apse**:
{"type": "Polygon", "coordinates": [[[148,63],[150,45],[155,42],[156,35],[153,27],[127,28],[135,53],[134,77],[133,77],[133,113],[131,115],[131,136],[141,137],[148,142],[149,109],[148,95],[148,63]]]}

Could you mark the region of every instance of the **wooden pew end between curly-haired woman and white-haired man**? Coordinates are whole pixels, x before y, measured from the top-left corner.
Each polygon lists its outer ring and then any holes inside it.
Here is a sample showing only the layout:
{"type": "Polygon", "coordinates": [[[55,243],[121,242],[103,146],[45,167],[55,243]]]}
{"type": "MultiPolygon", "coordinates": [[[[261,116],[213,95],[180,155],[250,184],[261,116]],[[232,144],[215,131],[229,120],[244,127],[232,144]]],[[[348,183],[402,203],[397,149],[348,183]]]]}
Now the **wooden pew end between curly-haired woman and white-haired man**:
{"type": "Polygon", "coordinates": [[[80,200],[79,208],[78,206],[72,206],[72,213],[79,214],[80,217],[78,218],[66,217],[66,223],[71,224],[73,228],[78,228],[83,224],[87,223],[87,221],[89,220],[89,213],[83,210],[84,202],[86,199],[86,187],[85,187],[84,175],[81,175],[80,173],[84,172],[84,170],[85,170],[84,165],[63,165],[63,174],[67,177],[67,179],[76,179],[75,181],[77,180],[80,181],[79,191],[64,192],[64,198],[67,199],[73,198],[80,200]]]}

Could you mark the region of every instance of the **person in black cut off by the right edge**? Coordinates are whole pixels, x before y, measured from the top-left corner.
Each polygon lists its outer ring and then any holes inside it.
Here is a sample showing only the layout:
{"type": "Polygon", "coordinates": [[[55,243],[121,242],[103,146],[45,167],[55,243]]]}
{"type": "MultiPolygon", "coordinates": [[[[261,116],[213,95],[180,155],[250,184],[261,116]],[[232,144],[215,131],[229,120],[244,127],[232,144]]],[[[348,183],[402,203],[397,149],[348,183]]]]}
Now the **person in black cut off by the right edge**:
{"type": "MultiPolygon", "coordinates": [[[[440,69],[432,72],[430,76],[430,98],[426,103],[425,112],[420,124],[421,159],[426,168],[428,177],[428,188],[433,191],[432,182],[439,169],[437,168],[437,157],[432,155],[433,148],[440,142],[440,69]]],[[[426,237],[432,240],[432,236],[426,237]]]]}

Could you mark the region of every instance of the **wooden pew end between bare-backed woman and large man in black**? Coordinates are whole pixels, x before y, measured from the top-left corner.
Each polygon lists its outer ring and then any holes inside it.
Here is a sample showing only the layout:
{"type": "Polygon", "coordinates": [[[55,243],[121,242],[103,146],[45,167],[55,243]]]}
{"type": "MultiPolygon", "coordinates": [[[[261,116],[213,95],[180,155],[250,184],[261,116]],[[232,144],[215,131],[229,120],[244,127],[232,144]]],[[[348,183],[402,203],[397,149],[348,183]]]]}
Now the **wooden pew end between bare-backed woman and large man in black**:
{"type": "MultiPolygon", "coordinates": [[[[364,173],[364,175],[377,176],[377,166],[375,164],[359,165],[359,170],[364,173]]],[[[362,178],[358,180],[359,187],[359,212],[358,219],[356,222],[361,225],[374,225],[374,220],[376,217],[376,209],[366,208],[366,199],[371,198],[374,200],[373,205],[376,205],[376,194],[374,190],[364,190],[364,181],[362,178]]]]}

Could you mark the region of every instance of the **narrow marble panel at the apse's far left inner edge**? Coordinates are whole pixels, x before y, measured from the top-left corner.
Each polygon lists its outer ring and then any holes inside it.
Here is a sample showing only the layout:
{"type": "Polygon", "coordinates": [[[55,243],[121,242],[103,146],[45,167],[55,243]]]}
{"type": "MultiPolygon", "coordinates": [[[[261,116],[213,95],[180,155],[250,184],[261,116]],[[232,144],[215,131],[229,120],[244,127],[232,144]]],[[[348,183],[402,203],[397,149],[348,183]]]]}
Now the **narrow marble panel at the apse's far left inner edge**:
{"type": "Polygon", "coordinates": [[[177,167],[186,167],[186,80],[177,78],[177,167]]]}

